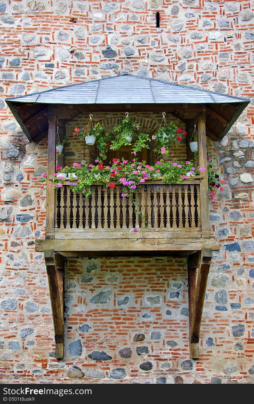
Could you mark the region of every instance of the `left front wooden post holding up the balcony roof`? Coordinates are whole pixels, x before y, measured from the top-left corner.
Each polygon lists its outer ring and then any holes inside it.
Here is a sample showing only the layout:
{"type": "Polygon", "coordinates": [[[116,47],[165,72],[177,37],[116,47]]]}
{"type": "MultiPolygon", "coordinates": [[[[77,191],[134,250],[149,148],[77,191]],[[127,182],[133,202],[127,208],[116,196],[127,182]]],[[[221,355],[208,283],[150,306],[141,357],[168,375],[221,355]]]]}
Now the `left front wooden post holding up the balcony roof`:
{"type": "Polygon", "coordinates": [[[46,232],[53,232],[55,228],[55,189],[49,188],[48,185],[49,178],[53,177],[56,167],[56,120],[56,116],[48,116],[46,232]]]}

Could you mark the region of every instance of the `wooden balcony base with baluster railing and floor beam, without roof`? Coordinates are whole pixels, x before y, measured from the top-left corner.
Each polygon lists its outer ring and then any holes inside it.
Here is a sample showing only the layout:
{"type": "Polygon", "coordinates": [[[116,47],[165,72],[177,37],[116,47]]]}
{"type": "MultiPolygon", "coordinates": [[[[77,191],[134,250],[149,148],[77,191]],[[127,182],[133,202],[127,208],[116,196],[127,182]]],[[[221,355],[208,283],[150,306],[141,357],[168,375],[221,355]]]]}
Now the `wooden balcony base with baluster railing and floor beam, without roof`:
{"type": "Polygon", "coordinates": [[[119,183],[115,188],[94,184],[86,198],[65,181],[54,192],[54,209],[47,212],[54,229],[46,229],[46,240],[37,240],[36,249],[74,251],[77,240],[80,252],[216,249],[207,227],[208,206],[200,198],[202,181],[202,176],[170,185],[162,179],[146,181],[127,198],[119,183]]]}

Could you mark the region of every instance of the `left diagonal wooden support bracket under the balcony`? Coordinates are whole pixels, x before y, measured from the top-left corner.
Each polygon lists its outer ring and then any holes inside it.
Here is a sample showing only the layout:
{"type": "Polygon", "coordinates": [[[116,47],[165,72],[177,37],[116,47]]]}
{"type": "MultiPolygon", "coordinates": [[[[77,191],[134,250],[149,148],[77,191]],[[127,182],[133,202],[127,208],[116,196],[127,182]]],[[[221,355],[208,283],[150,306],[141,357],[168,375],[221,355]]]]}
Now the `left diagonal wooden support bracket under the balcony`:
{"type": "Polygon", "coordinates": [[[55,330],[57,359],[64,353],[64,257],[54,250],[45,250],[44,258],[55,330]]]}

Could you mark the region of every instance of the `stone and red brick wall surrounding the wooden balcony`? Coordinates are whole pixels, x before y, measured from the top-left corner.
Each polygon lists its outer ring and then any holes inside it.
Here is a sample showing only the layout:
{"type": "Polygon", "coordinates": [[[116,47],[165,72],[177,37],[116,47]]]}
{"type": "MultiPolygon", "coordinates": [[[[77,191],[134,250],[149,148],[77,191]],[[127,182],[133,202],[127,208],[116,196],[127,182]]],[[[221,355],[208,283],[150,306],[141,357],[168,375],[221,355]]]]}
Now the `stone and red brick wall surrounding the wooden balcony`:
{"type": "Polygon", "coordinates": [[[0,27],[1,380],[253,383],[253,3],[1,0],[0,27]],[[221,248],[197,361],[186,260],[176,257],[69,260],[65,358],[54,358],[46,270],[34,248],[46,190],[32,178],[46,169],[47,139],[27,143],[4,99],[121,72],[251,99],[230,133],[208,142],[226,184],[210,206],[221,248]]]}

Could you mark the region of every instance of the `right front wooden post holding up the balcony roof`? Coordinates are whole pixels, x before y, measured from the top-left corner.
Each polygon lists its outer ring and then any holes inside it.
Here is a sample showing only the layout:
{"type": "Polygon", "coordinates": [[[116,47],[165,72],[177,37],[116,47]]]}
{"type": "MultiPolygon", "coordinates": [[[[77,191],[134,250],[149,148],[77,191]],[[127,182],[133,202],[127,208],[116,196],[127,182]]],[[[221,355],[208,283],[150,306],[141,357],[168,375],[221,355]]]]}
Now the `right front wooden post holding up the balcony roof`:
{"type": "Polygon", "coordinates": [[[206,171],[202,171],[204,178],[200,182],[200,219],[202,236],[210,237],[210,221],[209,221],[209,202],[208,202],[208,177],[207,177],[207,160],[206,160],[206,109],[200,109],[197,116],[197,145],[198,145],[198,162],[199,167],[204,167],[206,171]]]}

